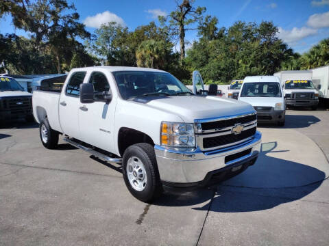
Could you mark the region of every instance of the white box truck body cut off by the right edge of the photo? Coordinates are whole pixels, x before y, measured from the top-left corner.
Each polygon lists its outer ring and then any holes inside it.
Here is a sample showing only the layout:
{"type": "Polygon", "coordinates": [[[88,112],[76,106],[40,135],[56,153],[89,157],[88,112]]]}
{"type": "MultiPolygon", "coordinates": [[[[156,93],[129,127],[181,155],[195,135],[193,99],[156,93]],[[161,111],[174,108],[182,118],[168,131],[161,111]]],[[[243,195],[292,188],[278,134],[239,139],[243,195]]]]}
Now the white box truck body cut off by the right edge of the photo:
{"type": "Polygon", "coordinates": [[[328,100],[329,98],[329,66],[312,69],[312,81],[319,90],[319,97],[328,100]]]}

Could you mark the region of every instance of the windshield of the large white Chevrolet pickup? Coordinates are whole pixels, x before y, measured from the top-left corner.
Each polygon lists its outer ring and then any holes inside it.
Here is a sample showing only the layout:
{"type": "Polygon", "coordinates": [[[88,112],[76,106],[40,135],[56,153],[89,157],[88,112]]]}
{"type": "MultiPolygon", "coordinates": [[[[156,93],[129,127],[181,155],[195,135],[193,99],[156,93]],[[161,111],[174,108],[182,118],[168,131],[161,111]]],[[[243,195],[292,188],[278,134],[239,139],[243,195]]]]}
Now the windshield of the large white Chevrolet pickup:
{"type": "Polygon", "coordinates": [[[137,96],[193,95],[182,82],[167,72],[113,72],[122,98],[137,96]]]}

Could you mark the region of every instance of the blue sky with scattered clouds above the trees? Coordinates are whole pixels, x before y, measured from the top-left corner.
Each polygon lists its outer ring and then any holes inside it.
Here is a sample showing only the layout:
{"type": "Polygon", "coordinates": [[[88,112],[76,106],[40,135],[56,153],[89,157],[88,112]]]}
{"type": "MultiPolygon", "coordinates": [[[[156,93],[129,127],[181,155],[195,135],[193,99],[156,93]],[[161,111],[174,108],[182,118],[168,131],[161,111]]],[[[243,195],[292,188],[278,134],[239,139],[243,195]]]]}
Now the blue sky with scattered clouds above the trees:
{"type": "MultiPolygon", "coordinates": [[[[180,0],[178,0],[180,1],[180,0]]],[[[70,0],[69,0],[70,2],[70,0]]],[[[156,20],[158,14],[175,9],[174,0],[78,0],[74,2],[80,20],[92,32],[101,23],[116,20],[133,30],[156,20]]],[[[279,27],[279,37],[294,49],[304,53],[319,40],[329,37],[329,0],[196,0],[206,7],[206,14],[217,16],[220,27],[230,27],[235,21],[260,23],[272,20],[279,27]]],[[[25,35],[14,30],[10,16],[0,20],[0,32],[25,35]]],[[[188,31],[187,40],[197,40],[197,31],[188,31]]]]}

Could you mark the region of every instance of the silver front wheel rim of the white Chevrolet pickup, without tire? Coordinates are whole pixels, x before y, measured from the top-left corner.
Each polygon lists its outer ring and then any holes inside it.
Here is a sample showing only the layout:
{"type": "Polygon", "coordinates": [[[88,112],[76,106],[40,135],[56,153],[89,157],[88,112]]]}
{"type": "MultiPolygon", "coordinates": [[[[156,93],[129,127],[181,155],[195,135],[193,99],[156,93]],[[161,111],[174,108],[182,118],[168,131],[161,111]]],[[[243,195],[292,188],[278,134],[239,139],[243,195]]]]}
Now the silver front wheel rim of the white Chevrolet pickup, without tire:
{"type": "Polygon", "coordinates": [[[132,156],[127,161],[127,177],[136,191],[143,191],[146,187],[147,177],[145,166],[142,161],[136,157],[132,156]]]}

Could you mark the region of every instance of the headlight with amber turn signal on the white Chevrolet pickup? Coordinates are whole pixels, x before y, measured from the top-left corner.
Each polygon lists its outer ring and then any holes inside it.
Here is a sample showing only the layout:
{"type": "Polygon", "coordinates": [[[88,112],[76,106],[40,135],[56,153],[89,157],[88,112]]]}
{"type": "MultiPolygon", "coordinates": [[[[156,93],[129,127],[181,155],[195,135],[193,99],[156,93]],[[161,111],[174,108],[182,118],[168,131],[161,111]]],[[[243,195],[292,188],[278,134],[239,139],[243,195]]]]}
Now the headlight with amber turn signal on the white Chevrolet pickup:
{"type": "Polygon", "coordinates": [[[193,124],[162,122],[161,145],[171,147],[195,147],[193,124]]]}

